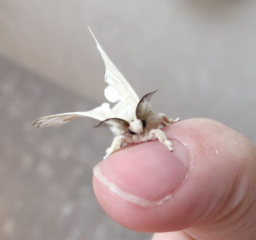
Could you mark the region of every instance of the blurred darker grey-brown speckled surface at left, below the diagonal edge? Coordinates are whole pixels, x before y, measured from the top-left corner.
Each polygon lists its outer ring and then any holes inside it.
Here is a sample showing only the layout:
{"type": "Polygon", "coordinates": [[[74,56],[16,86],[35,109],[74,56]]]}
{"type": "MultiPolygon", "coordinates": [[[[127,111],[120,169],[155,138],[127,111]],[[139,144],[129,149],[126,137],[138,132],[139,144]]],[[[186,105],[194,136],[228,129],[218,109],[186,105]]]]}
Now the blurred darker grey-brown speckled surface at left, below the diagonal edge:
{"type": "Polygon", "coordinates": [[[92,169],[112,140],[98,121],[36,129],[35,118],[94,104],[0,58],[0,239],[149,239],[99,206],[92,169]]]}

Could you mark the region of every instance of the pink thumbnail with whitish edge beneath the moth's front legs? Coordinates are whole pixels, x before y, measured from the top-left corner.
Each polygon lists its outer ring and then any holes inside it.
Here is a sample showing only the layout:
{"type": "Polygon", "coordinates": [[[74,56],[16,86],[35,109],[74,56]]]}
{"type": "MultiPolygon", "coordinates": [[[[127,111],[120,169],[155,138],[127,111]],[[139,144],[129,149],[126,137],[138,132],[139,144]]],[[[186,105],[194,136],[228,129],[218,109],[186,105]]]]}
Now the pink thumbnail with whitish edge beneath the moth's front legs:
{"type": "Polygon", "coordinates": [[[173,152],[158,140],[123,149],[101,161],[94,176],[121,198],[148,207],[170,198],[185,180],[187,148],[171,140],[173,152]]]}

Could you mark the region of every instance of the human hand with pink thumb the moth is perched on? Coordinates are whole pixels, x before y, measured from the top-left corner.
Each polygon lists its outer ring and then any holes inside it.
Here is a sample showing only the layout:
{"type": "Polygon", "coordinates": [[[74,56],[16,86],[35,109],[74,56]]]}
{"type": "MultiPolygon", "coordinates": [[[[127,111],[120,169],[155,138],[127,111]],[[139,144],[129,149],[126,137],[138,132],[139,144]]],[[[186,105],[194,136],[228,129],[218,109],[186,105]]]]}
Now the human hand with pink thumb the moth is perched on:
{"type": "Polygon", "coordinates": [[[94,168],[94,191],[123,226],[153,240],[256,239],[256,148],[210,119],[162,129],[159,141],[122,148],[94,168]]]}

